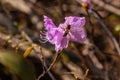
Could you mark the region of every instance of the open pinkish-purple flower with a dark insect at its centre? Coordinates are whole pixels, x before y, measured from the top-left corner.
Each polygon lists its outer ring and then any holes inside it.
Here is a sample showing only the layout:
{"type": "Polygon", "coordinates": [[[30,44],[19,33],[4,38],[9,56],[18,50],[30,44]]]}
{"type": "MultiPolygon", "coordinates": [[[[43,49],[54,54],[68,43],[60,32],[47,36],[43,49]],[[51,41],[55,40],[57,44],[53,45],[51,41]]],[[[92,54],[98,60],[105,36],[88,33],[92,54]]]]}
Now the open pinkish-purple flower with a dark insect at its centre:
{"type": "Polygon", "coordinates": [[[57,27],[50,18],[44,16],[46,38],[55,45],[57,52],[67,48],[69,41],[83,42],[86,39],[86,33],[82,28],[84,25],[85,17],[65,17],[65,22],[57,27]]]}

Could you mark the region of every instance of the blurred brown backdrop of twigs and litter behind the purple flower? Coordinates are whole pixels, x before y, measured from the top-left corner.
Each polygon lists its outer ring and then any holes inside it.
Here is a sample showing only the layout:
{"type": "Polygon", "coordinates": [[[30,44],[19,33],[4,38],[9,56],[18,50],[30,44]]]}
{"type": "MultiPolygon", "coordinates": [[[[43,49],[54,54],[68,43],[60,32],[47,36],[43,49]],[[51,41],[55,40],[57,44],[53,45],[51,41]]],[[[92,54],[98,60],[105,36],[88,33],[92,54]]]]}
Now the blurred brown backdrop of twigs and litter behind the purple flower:
{"type": "Polygon", "coordinates": [[[93,12],[81,3],[0,0],[0,80],[120,80],[120,0],[90,0],[93,12]],[[65,16],[86,17],[87,39],[70,42],[42,76],[55,56],[54,45],[40,39],[43,15],[57,26],[65,16]]]}

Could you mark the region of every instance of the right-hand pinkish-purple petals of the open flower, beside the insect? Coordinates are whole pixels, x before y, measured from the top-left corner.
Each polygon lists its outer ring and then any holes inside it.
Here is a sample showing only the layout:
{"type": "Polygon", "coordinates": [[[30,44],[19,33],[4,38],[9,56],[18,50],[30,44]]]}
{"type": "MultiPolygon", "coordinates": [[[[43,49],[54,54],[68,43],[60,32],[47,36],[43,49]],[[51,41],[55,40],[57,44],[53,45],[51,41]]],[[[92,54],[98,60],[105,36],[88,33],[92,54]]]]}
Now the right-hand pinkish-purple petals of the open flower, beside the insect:
{"type": "Polygon", "coordinates": [[[83,42],[86,39],[86,34],[83,31],[85,25],[85,17],[66,17],[65,24],[71,25],[69,37],[72,41],[83,42]]]}

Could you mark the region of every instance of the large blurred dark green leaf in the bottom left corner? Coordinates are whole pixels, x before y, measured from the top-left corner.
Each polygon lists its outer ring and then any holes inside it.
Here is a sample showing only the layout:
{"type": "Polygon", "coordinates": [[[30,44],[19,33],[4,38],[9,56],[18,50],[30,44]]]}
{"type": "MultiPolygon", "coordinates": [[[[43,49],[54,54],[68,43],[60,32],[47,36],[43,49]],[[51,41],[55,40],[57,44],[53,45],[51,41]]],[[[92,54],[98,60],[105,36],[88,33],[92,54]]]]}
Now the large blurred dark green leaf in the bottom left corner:
{"type": "Polygon", "coordinates": [[[21,80],[35,80],[34,67],[23,56],[14,52],[0,50],[0,63],[12,73],[17,74],[21,80]]]}

